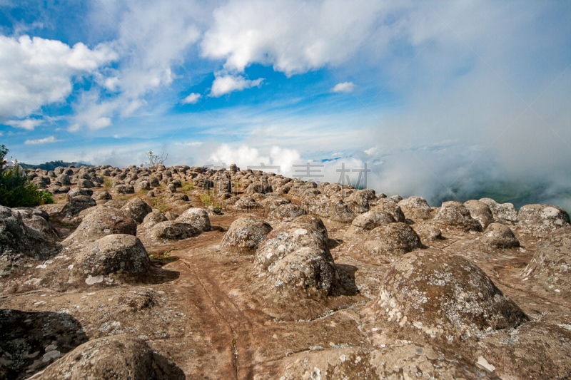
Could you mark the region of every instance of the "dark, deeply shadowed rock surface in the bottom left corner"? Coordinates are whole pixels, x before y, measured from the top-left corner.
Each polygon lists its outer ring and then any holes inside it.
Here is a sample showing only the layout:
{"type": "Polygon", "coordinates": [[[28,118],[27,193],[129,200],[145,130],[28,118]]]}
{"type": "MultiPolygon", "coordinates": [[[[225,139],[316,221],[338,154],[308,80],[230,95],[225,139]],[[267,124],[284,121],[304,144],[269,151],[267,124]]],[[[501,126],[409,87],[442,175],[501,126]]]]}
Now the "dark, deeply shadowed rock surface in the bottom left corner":
{"type": "Polygon", "coordinates": [[[66,313],[0,309],[0,379],[25,379],[89,339],[66,313]]]}

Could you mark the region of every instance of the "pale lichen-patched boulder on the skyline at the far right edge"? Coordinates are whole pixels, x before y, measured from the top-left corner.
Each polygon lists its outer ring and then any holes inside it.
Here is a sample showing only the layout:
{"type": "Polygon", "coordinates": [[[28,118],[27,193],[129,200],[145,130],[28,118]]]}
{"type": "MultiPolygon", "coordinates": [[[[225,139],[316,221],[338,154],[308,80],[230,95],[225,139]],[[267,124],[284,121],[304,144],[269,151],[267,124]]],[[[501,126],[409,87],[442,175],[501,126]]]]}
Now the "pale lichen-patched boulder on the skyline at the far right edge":
{"type": "Polygon", "coordinates": [[[517,231],[534,237],[544,237],[570,224],[567,212],[553,205],[525,205],[517,218],[517,231]]]}

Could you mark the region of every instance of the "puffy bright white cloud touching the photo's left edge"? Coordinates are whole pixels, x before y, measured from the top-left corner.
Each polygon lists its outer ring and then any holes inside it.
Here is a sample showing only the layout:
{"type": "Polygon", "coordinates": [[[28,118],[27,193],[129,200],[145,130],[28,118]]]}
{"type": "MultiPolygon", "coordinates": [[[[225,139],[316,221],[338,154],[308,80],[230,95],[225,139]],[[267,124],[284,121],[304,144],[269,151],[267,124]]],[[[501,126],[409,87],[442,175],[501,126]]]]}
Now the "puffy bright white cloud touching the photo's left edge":
{"type": "Polygon", "coordinates": [[[74,76],[117,58],[106,46],[89,49],[39,37],[0,36],[0,118],[24,118],[71,93],[74,76]]]}

